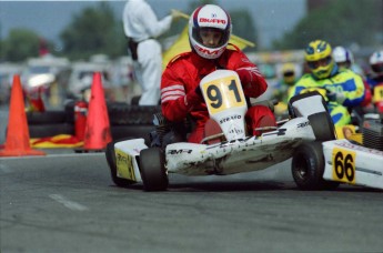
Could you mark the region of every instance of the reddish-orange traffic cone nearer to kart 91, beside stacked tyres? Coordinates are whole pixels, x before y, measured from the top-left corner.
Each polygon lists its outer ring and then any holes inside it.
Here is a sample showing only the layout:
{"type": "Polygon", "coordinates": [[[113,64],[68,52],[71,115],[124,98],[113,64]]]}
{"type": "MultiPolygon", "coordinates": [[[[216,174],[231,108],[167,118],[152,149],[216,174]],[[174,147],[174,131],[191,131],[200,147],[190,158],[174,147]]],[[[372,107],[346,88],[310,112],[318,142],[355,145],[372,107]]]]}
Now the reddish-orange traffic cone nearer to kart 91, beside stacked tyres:
{"type": "Polygon", "coordinates": [[[103,150],[112,141],[101,73],[94,72],[84,136],[84,150],[103,150]]]}

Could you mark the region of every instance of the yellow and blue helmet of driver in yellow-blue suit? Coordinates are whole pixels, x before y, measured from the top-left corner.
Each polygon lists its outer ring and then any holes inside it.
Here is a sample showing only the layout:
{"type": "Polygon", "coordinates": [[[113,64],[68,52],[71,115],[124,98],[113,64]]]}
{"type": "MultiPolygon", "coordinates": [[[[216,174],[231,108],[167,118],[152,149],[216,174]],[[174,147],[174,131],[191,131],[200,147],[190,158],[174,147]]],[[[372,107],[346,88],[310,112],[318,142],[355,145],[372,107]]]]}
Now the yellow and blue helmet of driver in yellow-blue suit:
{"type": "Polygon", "coordinates": [[[310,70],[318,79],[329,78],[335,64],[331,45],[323,40],[310,42],[304,58],[310,70]]]}

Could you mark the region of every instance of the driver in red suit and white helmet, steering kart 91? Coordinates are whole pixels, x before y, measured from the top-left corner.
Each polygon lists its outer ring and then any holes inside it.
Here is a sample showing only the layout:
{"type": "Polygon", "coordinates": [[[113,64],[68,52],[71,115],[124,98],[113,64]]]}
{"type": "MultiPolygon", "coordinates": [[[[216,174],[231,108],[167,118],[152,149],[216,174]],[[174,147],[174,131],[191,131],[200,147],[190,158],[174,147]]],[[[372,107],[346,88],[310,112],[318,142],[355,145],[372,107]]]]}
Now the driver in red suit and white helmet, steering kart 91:
{"type": "MultiPolygon", "coordinates": [[[[235,71],[246,98],[258,98],[268,89],[258,67],[235,45],[228,49],[232,23],[221,7],[205,4],[196,8],[189,19],[191,52],[174,57],[162,74],[162,114],[170,122],[181,122],[188,115],[195,128],[188,136],[189,142],[200,143],[209,120],[206,104],[199,83],[202,78],[219,69],[235,71]]],[[[268,107],[250,107],[245,121],[248,133],[260,135],[255,128],[275,126],[275,118],[268,107]]],[[[209,121],[210,122],[210,121],[209,121]]]]}

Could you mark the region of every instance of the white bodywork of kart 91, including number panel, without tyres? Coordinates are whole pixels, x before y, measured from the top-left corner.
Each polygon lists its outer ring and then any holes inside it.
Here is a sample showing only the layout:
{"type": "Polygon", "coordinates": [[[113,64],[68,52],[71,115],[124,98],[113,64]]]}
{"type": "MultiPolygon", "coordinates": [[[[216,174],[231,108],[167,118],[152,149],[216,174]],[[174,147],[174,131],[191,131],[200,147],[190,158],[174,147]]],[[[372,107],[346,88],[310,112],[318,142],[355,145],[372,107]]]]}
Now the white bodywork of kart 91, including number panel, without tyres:
{"type": "MultiPolygon", "coordinates": [[[[302,142],[315,141],[308,120],[313,114],[310,111],[325,111],[320,94],[304,98],[292,104],[299,118],[261,136],[246,136],[246,103],[236,72],[218,70],[206,75],[200,87],[210,117],[220,124],[226,141],[218,144],[179,142],[167,145],[164,165],[169,173],[233,174],[263,170],[283,162],[292,156],[302,142]]],[[[118,142],[114,148],[118,176],[142,182],[137,160],[141,150],[148,149],[143,139],[118,142]]]]}

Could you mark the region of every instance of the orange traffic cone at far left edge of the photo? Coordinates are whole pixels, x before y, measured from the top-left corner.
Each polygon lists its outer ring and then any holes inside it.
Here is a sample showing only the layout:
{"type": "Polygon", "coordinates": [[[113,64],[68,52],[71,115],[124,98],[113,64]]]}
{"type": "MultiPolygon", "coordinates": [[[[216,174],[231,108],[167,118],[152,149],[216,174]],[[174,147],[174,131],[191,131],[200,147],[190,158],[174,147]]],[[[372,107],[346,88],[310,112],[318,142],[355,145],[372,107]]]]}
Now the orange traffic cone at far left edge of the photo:
{"type": "Polygon", "coordinates": [[[11,102],[9,107],[9,120],[4,149],[0,150],[0,156],[44,155],[39,150],[32,150],[29,143],[29,129],[24,109],[20,75],[13,75],[11,102]]]}

